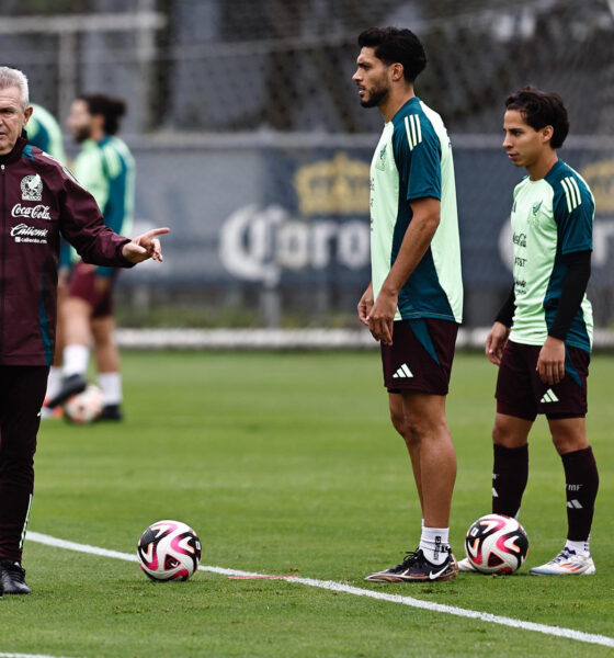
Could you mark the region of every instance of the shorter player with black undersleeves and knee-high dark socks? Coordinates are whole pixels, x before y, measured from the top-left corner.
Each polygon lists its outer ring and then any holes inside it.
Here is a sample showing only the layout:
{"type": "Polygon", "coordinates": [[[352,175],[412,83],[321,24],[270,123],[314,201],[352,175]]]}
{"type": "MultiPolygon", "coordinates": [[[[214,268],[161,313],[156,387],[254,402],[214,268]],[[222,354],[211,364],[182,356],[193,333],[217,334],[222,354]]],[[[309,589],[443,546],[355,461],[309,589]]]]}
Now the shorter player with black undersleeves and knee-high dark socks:
{"type": "MultiPolygon", "coordinates": [[[[486,355],[499,366],[492,511],[518,515],[528,476],[528,432],[537,413],[545,413],[565,470],[568,531],[562,551],[531,574],[590,576],[599,488],[584,423],[594,200],[557,155],[569,132],[560,97],[525,87],[505,106],[503,148],[528,175],[514,190],[511,214],[514,284],[486,341],[486,355]]],[[[471,570],[468,560],[459,568],[471,570]]]]}

